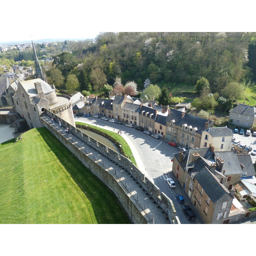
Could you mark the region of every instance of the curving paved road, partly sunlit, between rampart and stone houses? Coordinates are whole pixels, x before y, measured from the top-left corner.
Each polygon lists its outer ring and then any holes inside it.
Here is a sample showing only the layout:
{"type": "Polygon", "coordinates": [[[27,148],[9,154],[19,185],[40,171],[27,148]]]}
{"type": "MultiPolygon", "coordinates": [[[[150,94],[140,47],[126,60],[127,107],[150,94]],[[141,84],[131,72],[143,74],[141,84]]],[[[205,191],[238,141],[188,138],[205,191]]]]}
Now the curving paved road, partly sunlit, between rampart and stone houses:
{"type": "MultiPolygon", "coordinates": [[[[122,137],[126,140],[134,154],[137,166],[139,169],[147,176],[151,181],[164,192],[172,201],[175,206],[177,216],[180,219],[180,223],[202,223],[199,215],[197,214],[197,220],[194,222],[187,221],[184,213],[181,211],[181,205],[178,204],[175,195],[181,194],[184,196],[185,201],[193,208],[189,198],[186,196],[183,188],[180,184],[176,182],[177,188],[170,189],[166,183],[166,178],[168,178],[172,170],[173,154],[179,152],[177,148],[168,145],[168,141],[164,139],[154,139],[151,136],[144,134],[141,131],[135,130],[135,128],[129,128],[123,125],[117,125],[109,121],[104,121],[101,118],[95,119],[93,117],[78,117],[74,116],[75,121],[85,122],[92,125],[104,128],[109,131],[117,133],[118,130],[122,131],[122,137]]],[[[171,177],[176,180],[174,175],[171,177]]],[[[176,180],[177,181],[177,180],[176,180]]]]}

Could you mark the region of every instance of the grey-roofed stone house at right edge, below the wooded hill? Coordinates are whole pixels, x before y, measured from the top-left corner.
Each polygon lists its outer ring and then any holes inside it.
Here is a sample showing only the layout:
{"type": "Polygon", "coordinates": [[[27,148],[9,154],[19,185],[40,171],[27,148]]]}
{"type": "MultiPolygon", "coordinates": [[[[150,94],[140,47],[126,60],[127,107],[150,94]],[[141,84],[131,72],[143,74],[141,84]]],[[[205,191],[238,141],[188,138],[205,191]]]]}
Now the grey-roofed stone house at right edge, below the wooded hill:
{"type": "Polygon", "coordinates": [[[256,108],[253,106],[239,104],[230,110],[228,121],[236,127],[249,129],[256,125],[256,108]]]}

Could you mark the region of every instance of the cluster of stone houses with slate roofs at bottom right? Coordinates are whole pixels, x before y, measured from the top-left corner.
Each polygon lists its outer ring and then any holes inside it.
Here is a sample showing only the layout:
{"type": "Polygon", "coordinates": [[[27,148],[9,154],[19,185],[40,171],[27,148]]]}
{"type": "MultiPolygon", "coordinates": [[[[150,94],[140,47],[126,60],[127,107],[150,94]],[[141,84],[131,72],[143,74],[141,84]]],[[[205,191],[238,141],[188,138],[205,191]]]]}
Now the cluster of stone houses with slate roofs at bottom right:
{"type": "Polygon", "coordinates": [[[236,209],[236,185],[243,178],[255,180],[250,155],[215,151],[211,144],[174,154],[172,172],[206,224],[239,219],[244,212],[231,210],[236,209]]]}

